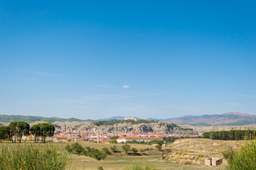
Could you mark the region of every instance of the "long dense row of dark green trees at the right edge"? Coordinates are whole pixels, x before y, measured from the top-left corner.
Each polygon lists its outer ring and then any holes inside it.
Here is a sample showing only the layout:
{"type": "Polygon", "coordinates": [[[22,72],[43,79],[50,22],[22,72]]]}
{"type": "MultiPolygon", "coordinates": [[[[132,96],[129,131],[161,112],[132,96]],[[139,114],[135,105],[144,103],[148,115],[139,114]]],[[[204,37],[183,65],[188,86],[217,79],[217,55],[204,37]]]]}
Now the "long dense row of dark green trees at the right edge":
{"type": "Polygon", "coordinates": [[[213,140],[251,140],[255,139],[256,130],[230,130],[218,132],[205,132],[203,138],[213,140]]]}

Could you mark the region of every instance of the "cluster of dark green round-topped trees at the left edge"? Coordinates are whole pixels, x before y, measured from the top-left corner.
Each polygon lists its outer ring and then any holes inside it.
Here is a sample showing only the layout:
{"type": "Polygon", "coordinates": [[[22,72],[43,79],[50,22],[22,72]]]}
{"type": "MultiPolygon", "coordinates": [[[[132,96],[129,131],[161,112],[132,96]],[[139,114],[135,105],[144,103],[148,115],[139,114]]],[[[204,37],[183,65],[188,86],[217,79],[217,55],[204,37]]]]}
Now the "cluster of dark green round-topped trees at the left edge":
{"type": "Polygon", "coordinates": [[[50,123],[39,123],[30,125],[23,121],[11,122],[8,126],[0,126],[0,141],[9,139],[16,143],[16,140],[21,143],[21,138],[27,135],[34,135],[35,143],[38,142],[38,137],[42,137],[42,142],[46,142],[46,137],[52,137],[55,127],[50,123]]]}

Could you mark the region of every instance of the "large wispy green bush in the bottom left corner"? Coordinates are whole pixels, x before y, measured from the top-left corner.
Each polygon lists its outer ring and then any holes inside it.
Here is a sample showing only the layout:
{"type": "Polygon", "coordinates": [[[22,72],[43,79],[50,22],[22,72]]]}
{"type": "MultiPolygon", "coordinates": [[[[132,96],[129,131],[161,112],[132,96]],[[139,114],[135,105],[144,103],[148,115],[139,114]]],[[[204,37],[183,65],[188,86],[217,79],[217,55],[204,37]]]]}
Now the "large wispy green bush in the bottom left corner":
{"type": "Polygon", "coordinates": [[[66,169],[68,154],[54,145],[1,145],[0,170],[66,169]]]}

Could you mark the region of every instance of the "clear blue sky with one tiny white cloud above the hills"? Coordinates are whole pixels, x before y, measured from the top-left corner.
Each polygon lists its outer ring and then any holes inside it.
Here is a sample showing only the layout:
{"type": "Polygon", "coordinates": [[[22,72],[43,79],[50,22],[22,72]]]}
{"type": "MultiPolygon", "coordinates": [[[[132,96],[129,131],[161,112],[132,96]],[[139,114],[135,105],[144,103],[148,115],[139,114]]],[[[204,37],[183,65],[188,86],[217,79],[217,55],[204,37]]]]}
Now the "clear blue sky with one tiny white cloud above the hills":
{"type": "Polygon", "coordinates": [[[256,1],[0,1],[0,114],[256,113],[256,1]]]}

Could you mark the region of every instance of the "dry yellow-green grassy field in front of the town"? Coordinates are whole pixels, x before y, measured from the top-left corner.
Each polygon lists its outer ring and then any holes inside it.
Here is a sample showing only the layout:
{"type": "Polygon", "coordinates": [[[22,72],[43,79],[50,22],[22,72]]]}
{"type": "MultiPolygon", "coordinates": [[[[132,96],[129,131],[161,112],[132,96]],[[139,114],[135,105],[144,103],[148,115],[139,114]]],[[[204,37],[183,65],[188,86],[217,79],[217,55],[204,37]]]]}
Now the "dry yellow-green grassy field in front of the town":
{"type": "MultiPolygon", "coordinates": [[[[208,167],[204,166],[204,159],[207,157],[223,157],[223,152],[228,148],[238,149],[244,141],[223,141],[206,139],[183,139],[163,146],[163,149],[171,149],[171,153],[161,160],[161,153],[152,145],[130,144],[131,147],[138,149],[137,156],[125,154],[122,150],[122,144],[97,144],[92,142],[80,142],[82,147],[95,147],[102,149],[117,146],[117,153],[107,156],[105,160],[97,161],[83,155],[70,154],[68,160],[68,169],[97,169],[102,166],[103,169],[129,169],[139,164],[140,166],[154,166],[156,169],[223,169],[224,166],[208,167]],[[143,151],[142,151],[143,150],[143,151]]],[[[6,145],[6,144],[4,144],[6,145]]],[[[10,144],[12,145],[12,144],[10,144]]],[[[15,145],[15,144],[14,144],[15,145]]],[[[44,144],[36,144],[44,145],[44,144]]],[[[60,149],[65,149],[67,143],[53,144],[58,145],[60,149]]],[[[2,147],[3,145],[0,145],[2,147]]]]}

